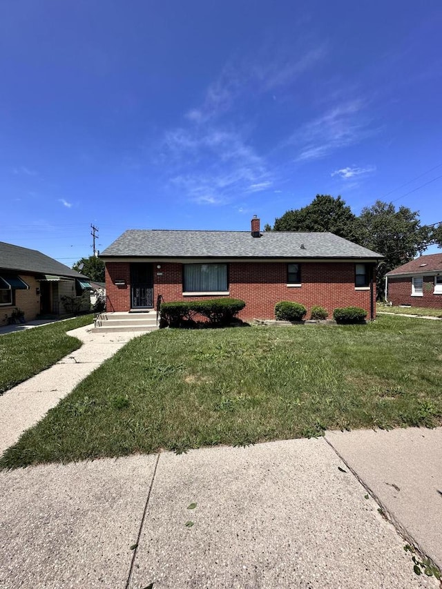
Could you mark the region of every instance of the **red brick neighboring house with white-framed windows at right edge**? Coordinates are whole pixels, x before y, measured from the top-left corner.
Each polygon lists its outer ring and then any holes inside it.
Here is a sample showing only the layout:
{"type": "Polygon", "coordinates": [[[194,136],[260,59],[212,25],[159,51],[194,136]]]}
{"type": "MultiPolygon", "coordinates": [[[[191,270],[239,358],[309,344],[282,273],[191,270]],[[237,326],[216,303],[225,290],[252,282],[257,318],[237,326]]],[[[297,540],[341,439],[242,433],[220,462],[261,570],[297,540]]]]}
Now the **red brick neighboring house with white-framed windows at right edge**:
{"type": "Polygon", "coordinates": [[[442,252],[421,255],[388,272],[385,298],[393,305],[442,309],[442,252]]]}

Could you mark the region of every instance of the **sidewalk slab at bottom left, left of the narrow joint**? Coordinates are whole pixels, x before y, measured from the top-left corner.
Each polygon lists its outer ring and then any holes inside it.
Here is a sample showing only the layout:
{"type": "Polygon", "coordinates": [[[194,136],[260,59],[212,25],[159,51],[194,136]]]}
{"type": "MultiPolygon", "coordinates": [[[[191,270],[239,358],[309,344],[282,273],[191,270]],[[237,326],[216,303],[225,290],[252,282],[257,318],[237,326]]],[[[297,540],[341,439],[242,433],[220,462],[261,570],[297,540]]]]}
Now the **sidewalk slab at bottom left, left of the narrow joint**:
{"type": "Polygon", "coordinates": [[[0,472],[0,587],[124,589],[156,459],[0,472]]]}

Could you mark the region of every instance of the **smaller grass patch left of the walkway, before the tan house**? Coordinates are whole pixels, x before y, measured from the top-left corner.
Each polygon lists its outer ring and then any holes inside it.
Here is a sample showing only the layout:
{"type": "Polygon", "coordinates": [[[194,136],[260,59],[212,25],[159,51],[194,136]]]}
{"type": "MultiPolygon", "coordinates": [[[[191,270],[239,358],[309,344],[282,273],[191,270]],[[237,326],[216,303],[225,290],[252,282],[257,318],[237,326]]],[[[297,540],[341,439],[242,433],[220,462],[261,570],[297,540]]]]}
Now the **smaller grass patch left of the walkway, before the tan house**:
{"type": "Polygon", "coordinates": [[[66,331],[88,325],[93,315],[0,335],[0,395],[81,346],[66,331]]]}

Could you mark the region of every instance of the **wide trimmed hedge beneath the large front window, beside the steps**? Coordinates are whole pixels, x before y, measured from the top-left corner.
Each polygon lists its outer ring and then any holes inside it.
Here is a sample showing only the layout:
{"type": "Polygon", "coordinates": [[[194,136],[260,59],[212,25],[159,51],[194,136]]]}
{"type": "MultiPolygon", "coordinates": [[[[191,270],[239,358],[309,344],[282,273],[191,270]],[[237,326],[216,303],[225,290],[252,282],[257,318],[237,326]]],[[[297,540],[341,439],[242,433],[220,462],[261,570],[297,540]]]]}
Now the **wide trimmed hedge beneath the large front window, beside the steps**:
{"type": "Polygon", "coordinates": [[[243,300],[236,298],[163,302],[160,325],[183,327],[195,322],[197,315],[205,317],[213,325],[229,325],[245,306],[243,300]]]}

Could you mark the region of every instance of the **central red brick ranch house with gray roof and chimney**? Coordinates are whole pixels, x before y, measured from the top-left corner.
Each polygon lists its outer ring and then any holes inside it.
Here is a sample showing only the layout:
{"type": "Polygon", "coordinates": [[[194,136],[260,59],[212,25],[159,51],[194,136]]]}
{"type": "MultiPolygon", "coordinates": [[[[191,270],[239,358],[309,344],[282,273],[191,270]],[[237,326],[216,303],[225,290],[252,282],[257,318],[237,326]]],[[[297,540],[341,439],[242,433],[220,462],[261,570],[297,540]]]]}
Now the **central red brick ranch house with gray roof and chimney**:
{"type": "Polygon", "coordinates": [[[165,301],[240,298],[244,319],[273,318],[280,300],[329,311],[363,307],[374,318],[382,255],[332,233],[130,230],[105,249],[108,311],[165,301]]]}

